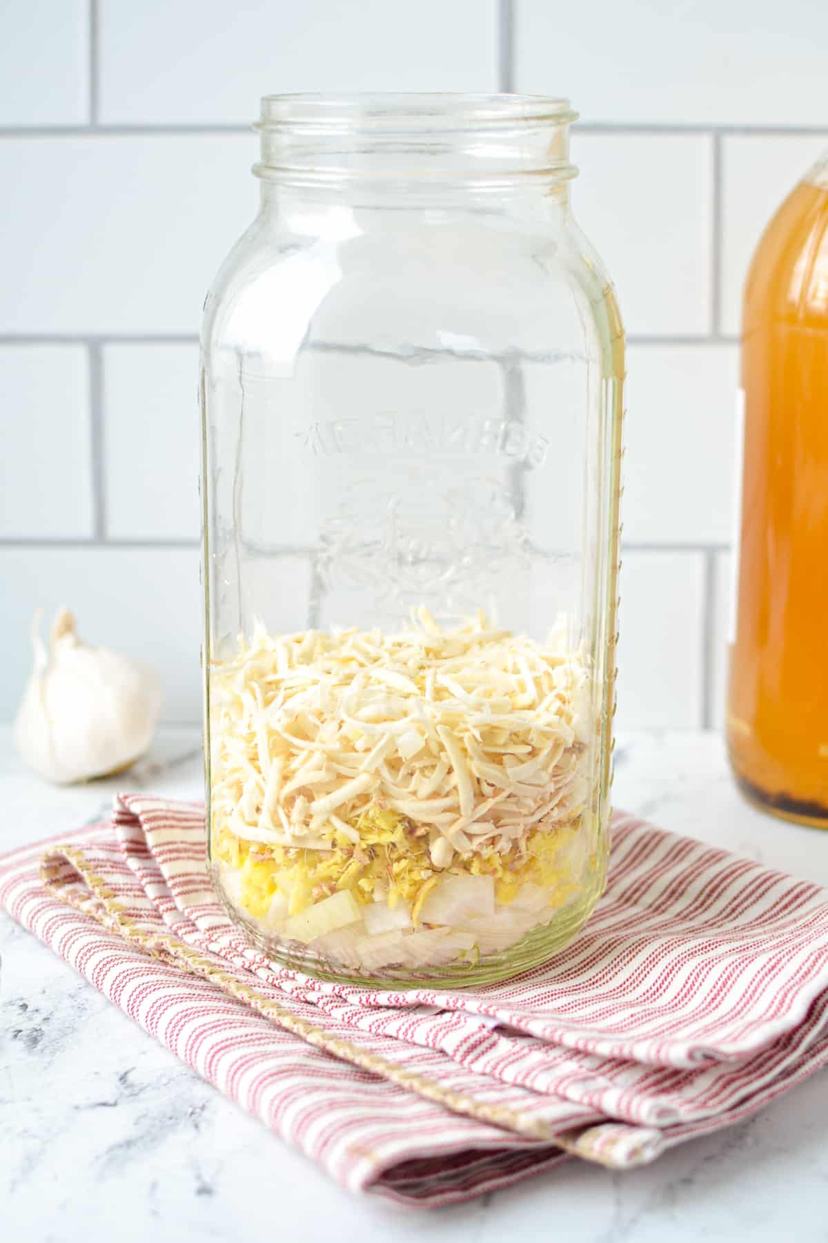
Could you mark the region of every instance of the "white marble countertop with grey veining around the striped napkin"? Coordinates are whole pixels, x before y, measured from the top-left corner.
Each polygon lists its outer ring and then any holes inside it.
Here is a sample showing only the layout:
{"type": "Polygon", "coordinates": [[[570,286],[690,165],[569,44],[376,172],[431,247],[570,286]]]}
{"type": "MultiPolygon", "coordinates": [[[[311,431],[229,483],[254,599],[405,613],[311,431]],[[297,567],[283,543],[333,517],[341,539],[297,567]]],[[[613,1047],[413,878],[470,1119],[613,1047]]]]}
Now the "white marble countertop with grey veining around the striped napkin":
{"type": "MultiPolygon", "coordinates": [[[[115,788],[199,797],[196,732],[118,782],[45,786],[0,731],[0,850],[98,818],[115,788]]],[[[711,733],[619,740],[616,802],[828,885],[828,833],[736,794],[711,733]]],[[[0,917],[0,1237],[22,1243],[828,1241],[828,1075],[623,1175],[569,1162],[437,1212],[354,1198],[0,917]]]]}

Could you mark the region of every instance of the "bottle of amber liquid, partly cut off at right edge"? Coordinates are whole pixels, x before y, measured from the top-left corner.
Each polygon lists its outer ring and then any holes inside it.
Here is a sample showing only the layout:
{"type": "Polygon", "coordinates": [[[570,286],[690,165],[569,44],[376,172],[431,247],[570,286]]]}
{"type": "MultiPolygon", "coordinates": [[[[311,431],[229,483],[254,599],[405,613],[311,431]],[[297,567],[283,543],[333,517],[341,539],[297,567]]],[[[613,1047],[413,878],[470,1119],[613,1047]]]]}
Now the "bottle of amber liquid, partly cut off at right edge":
{"type": "Polygon", "coordinates": [[[745,287],[727,748],[749,799],[828,828],[828,163],[745,287]],[[741,421],[741,420],[740,420],[741,421]]]}

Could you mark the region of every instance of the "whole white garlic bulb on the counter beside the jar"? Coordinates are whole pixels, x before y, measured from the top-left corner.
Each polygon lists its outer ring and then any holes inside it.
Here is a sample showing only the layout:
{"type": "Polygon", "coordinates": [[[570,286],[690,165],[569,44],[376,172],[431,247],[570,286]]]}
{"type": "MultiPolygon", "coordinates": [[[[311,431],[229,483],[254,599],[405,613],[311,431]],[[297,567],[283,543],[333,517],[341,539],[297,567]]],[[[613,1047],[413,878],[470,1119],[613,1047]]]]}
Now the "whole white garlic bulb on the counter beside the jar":
{"type": "Polygon", "coordinates": [[[24,692],[15,738],[25,762],[57,783],[87,781],[128,767],[146,751],[161,706],[154,670],[107,648],[89,648],[62,608],[51,650],[35,615],[35,667],[24,692]]]}

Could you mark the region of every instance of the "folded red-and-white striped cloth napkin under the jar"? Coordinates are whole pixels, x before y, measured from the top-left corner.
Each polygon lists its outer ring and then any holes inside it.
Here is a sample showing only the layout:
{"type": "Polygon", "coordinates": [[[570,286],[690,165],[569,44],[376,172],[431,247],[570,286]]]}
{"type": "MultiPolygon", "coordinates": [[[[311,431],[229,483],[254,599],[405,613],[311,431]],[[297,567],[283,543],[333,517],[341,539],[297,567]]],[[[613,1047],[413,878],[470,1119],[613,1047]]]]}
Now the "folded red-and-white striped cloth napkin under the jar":
{"type": "Polygon", "coordinates": [[[273,963],[216,902],[192,803],[122,796],[6,855],[0,905],[339,1182],[412,1204],[652,1161],[828,1062],[828,892],[621,813],[576,941],[472,992],[273,963]]]}

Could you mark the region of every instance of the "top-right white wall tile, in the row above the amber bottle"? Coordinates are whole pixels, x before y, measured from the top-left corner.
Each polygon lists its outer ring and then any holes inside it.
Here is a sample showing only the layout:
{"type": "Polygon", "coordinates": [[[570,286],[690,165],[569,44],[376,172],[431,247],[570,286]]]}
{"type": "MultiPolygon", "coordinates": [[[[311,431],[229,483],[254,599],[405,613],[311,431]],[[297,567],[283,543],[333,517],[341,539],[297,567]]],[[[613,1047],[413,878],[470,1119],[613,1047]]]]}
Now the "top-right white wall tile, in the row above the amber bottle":
{"type": "Polygon", "coordinates": [[[819,0],[518,0],[515,86],[608,126],[818,126],[827,42],[819,0]]]}

